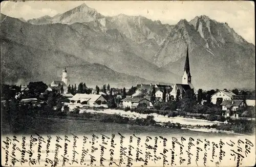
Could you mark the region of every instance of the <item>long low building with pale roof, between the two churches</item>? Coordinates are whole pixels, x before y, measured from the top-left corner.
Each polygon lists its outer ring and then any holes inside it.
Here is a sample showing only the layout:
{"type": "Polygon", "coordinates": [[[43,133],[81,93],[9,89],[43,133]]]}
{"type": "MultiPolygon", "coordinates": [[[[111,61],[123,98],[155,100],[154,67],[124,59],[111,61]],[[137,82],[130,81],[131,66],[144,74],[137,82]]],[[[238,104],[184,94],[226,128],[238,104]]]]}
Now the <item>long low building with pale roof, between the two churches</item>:
{"type": "Polygon", "coordinates": [[[108,107],[107,100],[102,95],[77,93],[70,98],[70,105],[90,106],[90,107],[108,107]]]}

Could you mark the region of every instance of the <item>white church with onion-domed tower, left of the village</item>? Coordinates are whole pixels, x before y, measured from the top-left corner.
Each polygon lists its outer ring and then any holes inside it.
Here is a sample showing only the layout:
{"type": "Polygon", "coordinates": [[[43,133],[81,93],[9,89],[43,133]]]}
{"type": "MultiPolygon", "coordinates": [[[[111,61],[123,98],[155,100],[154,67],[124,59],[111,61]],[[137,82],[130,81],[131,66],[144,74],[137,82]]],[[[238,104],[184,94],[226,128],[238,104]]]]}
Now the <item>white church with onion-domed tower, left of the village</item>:
{"type": "Polygon", "coordinates": [[[68,83],[69,82],[69,77],[67,73],[66,67],[62,70],[62,78],[61,80],[54,80],[51,82],[50,87],[48,87],[48,91],[57,91],[59,93],[64,93],[66,94],[68,92],[68,83]],[[63,87],[63,90],[61,92],[61,88],[63,87]]]}

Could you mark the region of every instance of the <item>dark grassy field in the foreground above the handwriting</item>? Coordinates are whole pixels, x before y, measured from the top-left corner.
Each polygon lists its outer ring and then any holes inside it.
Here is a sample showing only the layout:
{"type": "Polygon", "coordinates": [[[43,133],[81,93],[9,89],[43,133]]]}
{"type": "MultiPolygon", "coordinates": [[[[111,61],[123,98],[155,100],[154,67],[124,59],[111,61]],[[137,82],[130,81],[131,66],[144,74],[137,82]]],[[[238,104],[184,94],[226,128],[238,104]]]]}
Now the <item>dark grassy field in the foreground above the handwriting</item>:
{"type": "MultiPolygon", "coordinates": [[[[140,126],[117,123],[104,123],[96,120],[76,120],[60,118],[36,117],[20,125],[19,134],[92,134],[92,133],[126,133],[145,135],[170,135],[173,136],[233,136],[225,133],[210,133],[200,131],[190,131],[185,129],[172,129],[155,126],[140,126]]],[[[2,134],[8,134],[10,126],[8,123],[2,124],[2,134]]]]}

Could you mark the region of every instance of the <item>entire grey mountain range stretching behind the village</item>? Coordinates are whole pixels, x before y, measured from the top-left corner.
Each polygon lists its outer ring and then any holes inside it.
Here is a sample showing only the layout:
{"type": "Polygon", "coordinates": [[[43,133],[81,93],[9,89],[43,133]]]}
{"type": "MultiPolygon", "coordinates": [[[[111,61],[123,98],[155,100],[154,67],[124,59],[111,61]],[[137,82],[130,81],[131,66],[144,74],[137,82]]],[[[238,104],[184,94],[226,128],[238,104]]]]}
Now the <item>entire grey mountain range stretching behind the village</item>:
{"type": "Polygon", "coordinates": [[[204,15],[169,25],[142,16],[103,16],[86,4],[27,21],[1,14],[6,82],[50,82],[64,66],[71,84],[181,82],[187,47],[196,88],[255,87],[254,45],[204,15]]]}

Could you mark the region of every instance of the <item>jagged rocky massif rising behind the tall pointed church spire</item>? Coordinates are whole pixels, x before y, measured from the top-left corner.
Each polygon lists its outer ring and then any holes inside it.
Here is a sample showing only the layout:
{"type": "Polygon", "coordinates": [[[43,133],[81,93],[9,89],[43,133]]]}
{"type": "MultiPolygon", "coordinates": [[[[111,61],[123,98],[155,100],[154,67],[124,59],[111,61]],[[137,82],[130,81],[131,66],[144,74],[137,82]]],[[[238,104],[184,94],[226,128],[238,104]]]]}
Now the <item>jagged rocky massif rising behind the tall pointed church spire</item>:
{"type": "Polygon", "coordinates": [[[254,46],[226,23],[207,16],[190,22],[181,20],[155,54],[155,63],[181,76],[187,47],[195,86],[241,88],[255,85],[254,46]]]}

